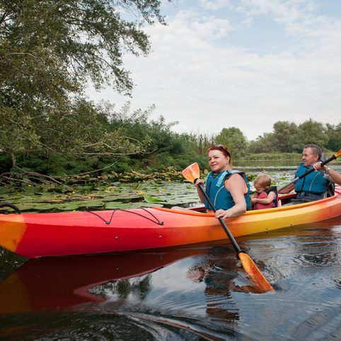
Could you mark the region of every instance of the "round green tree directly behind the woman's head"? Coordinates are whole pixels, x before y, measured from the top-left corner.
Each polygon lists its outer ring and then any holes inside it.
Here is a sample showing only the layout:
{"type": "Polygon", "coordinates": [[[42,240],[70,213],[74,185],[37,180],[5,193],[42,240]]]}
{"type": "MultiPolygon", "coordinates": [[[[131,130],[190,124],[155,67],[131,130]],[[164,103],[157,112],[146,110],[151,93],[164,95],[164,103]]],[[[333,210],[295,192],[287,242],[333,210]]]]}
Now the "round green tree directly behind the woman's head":
{"type": "Polygon", "coordinates": [[[241,158],[246,154],[247,140],[241,129],[236,127],[223,128],[216,135],[216,143],[226,145],[233,158],[241,158]]]}

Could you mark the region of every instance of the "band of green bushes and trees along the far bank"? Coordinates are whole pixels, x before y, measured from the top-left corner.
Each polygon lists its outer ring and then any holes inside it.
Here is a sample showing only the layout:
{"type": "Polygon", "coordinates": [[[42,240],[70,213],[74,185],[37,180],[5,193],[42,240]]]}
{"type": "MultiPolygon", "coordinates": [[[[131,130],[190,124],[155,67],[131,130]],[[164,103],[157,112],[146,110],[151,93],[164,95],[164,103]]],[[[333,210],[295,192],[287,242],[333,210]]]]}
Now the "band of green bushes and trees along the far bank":
{"type": "Polygon", "coordinates": [[[132,170],[151,173],[168,167],[181,171],[194,161],[207,168],[207,149],[212,144],[226,144],[238,160],[299,158],[308,143],[318,144],[327,152],[336,151],[341,145],[341,123],[323,125],[307,120],[296,125],[281,121],[274,124],[272,132],[248,141],[236,127],[225,127],[217,135],[176,133],[173,127],[177,122],[166,122],[162,116],[150,119],[154,107],[130,112],[127,103],[116,112],[115,106],[108,103],[79,102],[78,105],[55,122],[54,134],[49,134],[46,143],[35,149],[3,151],[0,173],[7,176],[16,173],[16,168],[40,175],[87,172],[99,175],[132,170]],[[85,131],[77,127],[84,127],[84,122],[79,123],[86,117],[83,112],[91,112],[85,131]]]}

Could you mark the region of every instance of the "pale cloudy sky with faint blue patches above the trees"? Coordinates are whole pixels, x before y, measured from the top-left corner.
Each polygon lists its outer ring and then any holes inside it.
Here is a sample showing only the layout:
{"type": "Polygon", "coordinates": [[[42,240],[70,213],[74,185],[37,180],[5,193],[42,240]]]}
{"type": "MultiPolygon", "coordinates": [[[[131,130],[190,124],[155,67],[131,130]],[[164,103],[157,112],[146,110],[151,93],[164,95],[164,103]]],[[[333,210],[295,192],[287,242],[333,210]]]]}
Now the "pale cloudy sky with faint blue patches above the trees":
{"type": "Polygon", "coordinates": [[[149,55],[124,56],[132,98],[89,89],[92,100],[155,104],[151,119],[175,132],[237,127],[248,140],[278,121],[341,122],[340,0],[175,0],[161,13],[149,55]]]}

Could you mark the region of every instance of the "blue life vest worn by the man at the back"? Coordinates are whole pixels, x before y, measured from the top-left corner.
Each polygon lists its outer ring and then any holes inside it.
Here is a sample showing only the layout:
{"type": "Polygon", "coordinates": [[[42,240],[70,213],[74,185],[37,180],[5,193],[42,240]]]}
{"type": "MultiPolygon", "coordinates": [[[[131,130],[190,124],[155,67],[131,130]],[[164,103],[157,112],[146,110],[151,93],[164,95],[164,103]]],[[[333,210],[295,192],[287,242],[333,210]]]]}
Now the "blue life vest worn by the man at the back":
{"type": "MultiPolygon", "coordinates": [[[[297,168],[295,178],[309,171],[312,167],[306,167],[303,163],[297,168]]],[[[327,180],[322,171],[314,171],[295,183],[295,192],[301,194],[323,195],[327,190],[327,180]]]]}

